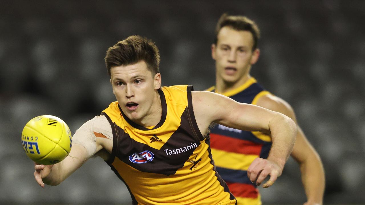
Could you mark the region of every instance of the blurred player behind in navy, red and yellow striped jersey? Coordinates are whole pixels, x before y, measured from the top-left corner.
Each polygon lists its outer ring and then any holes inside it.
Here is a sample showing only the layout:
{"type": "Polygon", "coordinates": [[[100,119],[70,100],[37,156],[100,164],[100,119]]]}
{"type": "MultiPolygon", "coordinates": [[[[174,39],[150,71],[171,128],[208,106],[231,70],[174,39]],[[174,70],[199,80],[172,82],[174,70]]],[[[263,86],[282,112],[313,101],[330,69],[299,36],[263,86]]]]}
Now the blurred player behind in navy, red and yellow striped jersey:
{"type": "MultiPolygon", "coordinates": [[[[251,65],[257,62],[260,50],[257,42],[260,31],[257,25],[244,16],[223,14],[216,26],[212,44],[212,58],[216,61],[216,85],[208,89],[237,102],[250,103],[283,113],[296,121],[291,106],[283,99],[270,94],[250,76],[251,65]]],[[[297,127],[296,143],[291,155],[299,163],[306,205],[322,204],[324,171],[322,162],[297,127]]],[[[227,182],[238,204],[260,205],[251,168],[255,158],[270,158],[272,136],[262,132],[249,132],[216,125],[211,129],[211,150],[220,176],[227,182]],[[269,156],[269,157],[268,157],[269,156]],[[251,165],[251,166],[250,166],[251,165]],[[249,167],[250,166],[250,167],[249,167]]]]}

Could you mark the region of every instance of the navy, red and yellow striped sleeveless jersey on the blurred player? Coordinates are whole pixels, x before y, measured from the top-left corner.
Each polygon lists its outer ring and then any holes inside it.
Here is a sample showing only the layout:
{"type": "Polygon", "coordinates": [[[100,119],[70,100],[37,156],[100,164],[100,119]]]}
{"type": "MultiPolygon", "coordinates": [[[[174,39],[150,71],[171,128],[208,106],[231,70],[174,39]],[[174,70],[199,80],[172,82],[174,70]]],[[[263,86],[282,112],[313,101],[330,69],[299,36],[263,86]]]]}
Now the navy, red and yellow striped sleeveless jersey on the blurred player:
{"type": "MultiPolygon", "coordinates": [[[[215,92],[215,87],[207,89],[215,92]]],[[[237,102],[256,104],[268,94],[254,78],[230,92],[220,93],[237,102]]],[[[215,125],[211,128],[211,152],[219,175],[226,181],[238,205],[261,205],[261,197],[247,176],[247,169],[257,157],[267,158],[271,137],[261,132],[249,132],[215,125]]]]}

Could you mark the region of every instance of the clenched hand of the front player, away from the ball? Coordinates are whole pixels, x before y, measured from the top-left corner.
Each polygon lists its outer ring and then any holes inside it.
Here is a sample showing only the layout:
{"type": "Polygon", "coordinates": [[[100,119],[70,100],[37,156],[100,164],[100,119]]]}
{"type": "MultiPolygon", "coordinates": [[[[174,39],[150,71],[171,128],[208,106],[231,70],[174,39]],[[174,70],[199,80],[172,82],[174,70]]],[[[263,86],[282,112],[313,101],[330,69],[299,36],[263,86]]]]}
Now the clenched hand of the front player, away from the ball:
{"type": "Polygon", "coordinates": [[[262,187],[267,188],[274,184],[282,171],[283,169],[277,163],[263,158],[256,158],[247,169],[247,175],[252,183],[256,182],[257,186],[270,175],[269,181],[262,185],[262,187]]]}

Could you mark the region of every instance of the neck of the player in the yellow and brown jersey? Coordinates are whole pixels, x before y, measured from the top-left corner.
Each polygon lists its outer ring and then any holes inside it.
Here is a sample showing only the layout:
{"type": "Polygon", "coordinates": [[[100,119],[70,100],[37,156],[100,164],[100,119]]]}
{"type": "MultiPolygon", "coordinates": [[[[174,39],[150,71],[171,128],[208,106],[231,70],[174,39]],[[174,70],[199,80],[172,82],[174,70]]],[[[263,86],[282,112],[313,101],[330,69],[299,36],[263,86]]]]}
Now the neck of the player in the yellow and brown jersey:
{"type": "Polygon", "coordinates": [[[160,94],[155,90],[155,95],[153,98],[153,103],[147,113],[146,117],[143,117],[141,121],[135,122],[143,127],[151,127],[157,125],[162,117],[162,105],[160,94]]]}

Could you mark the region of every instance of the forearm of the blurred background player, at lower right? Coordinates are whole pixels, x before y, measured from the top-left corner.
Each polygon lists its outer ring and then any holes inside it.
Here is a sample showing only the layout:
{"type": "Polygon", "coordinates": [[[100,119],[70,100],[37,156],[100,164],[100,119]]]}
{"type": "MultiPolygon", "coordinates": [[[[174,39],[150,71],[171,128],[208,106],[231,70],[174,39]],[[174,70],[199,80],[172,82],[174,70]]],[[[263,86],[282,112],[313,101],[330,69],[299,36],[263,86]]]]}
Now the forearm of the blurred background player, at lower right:
{"type": "Polygon", "coordinates": [[[307,158],[300,164],[300,171],[307,201],[322,204],[325,177],[319,156],[313,155],[307,158]]]}

